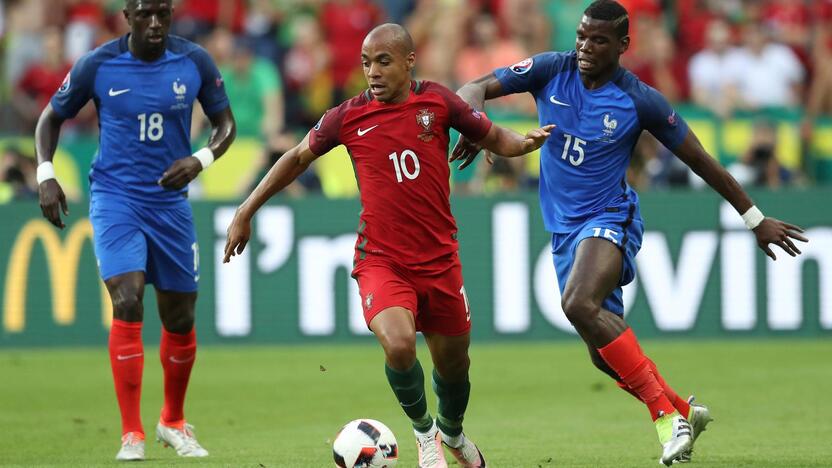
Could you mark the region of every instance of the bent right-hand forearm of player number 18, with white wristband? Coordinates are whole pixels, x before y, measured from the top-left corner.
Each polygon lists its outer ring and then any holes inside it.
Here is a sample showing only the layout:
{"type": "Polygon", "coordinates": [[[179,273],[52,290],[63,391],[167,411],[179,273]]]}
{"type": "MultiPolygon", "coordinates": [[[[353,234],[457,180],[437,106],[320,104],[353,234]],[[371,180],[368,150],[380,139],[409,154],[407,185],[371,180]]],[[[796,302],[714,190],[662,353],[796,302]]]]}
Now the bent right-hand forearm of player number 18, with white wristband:
{"type": "Polygon", "coordinates": [[[237,136],[237,124],[231,108],[226,107],[224,110],[209,115],[208,120],[211,122],[211,137],[208,139],[208,146],[190,156],[174,161],[162,174],[159,185],[168,190],[179,190],[196,179],[196,176],[214,160],[225,154],[237,136]]]}

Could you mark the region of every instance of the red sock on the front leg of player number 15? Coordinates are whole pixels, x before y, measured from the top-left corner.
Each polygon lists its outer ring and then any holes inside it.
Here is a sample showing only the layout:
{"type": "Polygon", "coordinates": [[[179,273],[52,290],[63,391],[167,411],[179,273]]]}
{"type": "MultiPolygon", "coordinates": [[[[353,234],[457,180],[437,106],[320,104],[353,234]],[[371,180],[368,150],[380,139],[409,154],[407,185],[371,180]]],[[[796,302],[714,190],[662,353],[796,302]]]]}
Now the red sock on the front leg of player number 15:
{"type": "Polygon", "coordinates": [[[651,365],[652,362],[642,353],[632,329],[624,330],[624,333],[608,345],[598,348],[598,352],[621,380],[647,405],[654,421],[659,417],[659,411],[664,414],[676,411],[653,373],[655,366],[651,365]]]}

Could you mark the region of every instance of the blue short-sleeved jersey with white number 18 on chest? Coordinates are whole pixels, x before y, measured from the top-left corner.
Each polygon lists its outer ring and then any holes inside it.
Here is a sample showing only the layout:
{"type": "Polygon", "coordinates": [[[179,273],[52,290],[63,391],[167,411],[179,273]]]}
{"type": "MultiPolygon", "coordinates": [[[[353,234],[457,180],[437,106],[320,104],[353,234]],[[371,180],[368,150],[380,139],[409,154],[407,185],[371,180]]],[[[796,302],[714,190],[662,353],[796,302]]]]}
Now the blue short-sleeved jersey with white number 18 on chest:
{"type": "Polygon", "coordinates": [[[158,185],[173,161],[191,154],[191,112],[199,99],[207,115],[228,107],[222,78],[198,45],[169,36],[154,62],[130,53],[127,38],[110,41],[72,67],[52,97],[63,118],[89,101],[98,110],[99,148],[90,170],[95,193],[158,203],[182,200],[187,189],[158,185]]]}

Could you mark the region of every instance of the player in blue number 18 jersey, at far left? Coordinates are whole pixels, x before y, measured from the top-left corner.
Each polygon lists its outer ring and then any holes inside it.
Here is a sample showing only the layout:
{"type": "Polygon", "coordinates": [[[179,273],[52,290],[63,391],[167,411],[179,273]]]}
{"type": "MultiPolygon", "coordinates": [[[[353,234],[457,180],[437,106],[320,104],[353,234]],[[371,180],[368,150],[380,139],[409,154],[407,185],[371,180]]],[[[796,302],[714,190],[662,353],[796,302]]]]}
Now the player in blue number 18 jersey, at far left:
{"type": "Polygon", "coordinates": [[[118,460],[144,459],[141,399],[144,287],[156,288],[162,321],[165,401],[156,437],[185,457],[208,452],[185,422],[196,357],[194,305],[199,248],[187,186],[234,140],[222,78],[204,49],[169,36],[171,0],[126,0],[130,32],[83,56],[35,130],[43,216],[64,227],[66,199],[52,168],[61,125],[93,100],[99,149],[90,170],[90,221],[101,278],[113,304],[110,363],[121,410],[118,460]],[[192,153],[194,100],[211,121],[208,146],[192,153]]]}

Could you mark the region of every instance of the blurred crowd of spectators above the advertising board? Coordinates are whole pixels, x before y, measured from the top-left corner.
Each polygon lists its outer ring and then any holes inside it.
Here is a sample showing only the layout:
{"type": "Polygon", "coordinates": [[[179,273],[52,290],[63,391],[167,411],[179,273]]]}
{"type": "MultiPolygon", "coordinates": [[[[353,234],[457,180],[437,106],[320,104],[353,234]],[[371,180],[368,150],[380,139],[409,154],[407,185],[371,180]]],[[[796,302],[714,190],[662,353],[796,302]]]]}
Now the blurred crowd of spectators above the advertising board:
{"type": "MultiPolygon", "coordinates": [[[[632,41],[624,66],[682,109],[695,109],[709,121],[741,116],[750,122],[744,147],[721,158],[741,183],[824,183],[811,169],[812,141],[832,114],[832,0],[619,1],[630,12],[632,41]],[[797,162],[786,165],[778,153],[784,116],[798,152],[797,162]]],[[[573,49],[589,3],[174,0],[172,33],[208,49],[225,80],[239,136],[260,142],[251,170],[231,194],[242,196],[327,108],[366,87],[359,50],[375,25],[404,24],[417,46],[416,77],[456,89],[527,56],[573,49]]],[[[0,138],[31,137],[72,63],[127,32],[123,7],[123,0],[0,0],[0,138]]],[[[493,118],[536,118],[527,95],[489,102],[488,109],[493,118]]],[[[194,134],[203,130],[204,138],[204,117],[196,112],[194,121],[194,134]]],[[[62,142],[95,137],[97,131],[90,103],[65,124],[62,142]]],[[[6,198],[35,196],[31,148],[0,149],[0,200],[4,190],[11,193],[6,198]]],[[[480,163],[457,178],[458,193],[536,184],[535,170],[522,159],[480,163]]],[[[701,185],[649,136],[637,145],[630,182],[639,189],[701,185]]],[[[289,194],[317,192],[321,185],[316,171],[309,171],[289,194]]]]}

